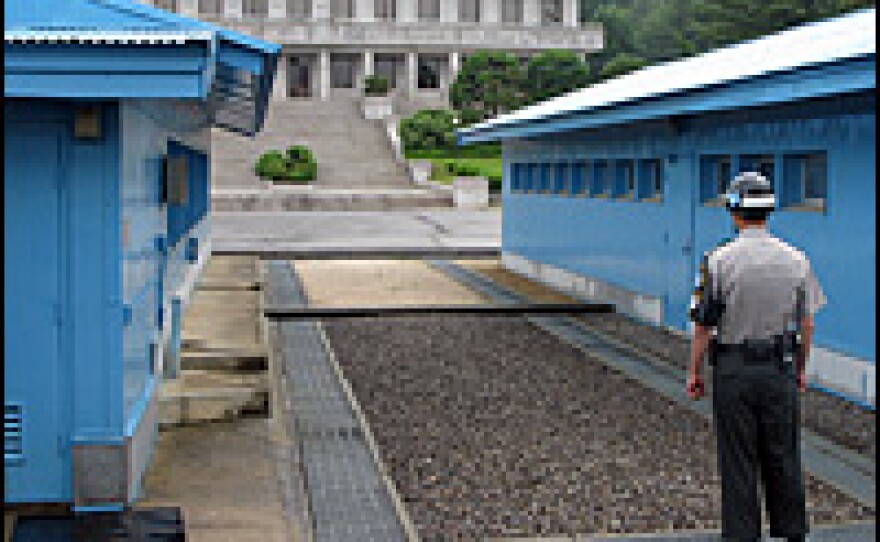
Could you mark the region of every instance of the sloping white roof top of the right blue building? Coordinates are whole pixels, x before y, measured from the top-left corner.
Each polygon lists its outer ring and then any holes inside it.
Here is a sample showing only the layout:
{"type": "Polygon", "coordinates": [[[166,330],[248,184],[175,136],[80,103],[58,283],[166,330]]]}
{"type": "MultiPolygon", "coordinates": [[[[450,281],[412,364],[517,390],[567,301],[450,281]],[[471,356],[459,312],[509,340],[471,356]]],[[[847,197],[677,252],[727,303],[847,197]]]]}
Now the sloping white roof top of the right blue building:
{"type": "Polygon", "coordinates": [[[501,115],[471,131],[590,110],[672,92],[876,54],[876,9],[802,25],[753,41],[649,66],[595,86],[501,115]]]}

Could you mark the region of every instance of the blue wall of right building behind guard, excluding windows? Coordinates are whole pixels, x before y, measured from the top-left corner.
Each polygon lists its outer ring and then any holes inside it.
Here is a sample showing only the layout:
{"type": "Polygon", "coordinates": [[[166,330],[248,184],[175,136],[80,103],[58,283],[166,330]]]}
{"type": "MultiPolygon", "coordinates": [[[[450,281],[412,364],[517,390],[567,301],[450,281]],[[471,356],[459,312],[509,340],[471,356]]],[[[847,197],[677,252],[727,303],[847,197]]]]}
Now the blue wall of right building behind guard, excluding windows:
{"type": "Polygon", "coordinates": [[[824,151],[825,211],[783,209],[770,229],[810,257],[829,298],[817,343],[874,360],[875,110],[858,94],[506,141],[503,250],[660,298],[665,323],[684,329],[699,258],[733,235],[724,209],[700,200],[700,156],[772,154],[781,178],[784,154],[824,151]],[[661,159],[662,202],[511,190],[513,164],[588,159],[661,159]]]}

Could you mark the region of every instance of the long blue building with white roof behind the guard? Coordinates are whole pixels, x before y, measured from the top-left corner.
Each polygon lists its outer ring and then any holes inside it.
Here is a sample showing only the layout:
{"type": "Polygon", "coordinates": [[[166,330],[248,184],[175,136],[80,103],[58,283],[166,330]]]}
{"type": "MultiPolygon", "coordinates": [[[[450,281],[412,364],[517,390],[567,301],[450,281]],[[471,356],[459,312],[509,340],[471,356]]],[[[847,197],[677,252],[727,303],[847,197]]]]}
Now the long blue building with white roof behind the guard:
{"type": "Polygon", "coordinates": [[[648,67],[461,130],[502,141],[503,260],[580,298],[685,331],[694,271],[733,235],[719,199],[772,179],[770,229],[829,298],[814,386],[873,408],[875,10],[648,67]]]}

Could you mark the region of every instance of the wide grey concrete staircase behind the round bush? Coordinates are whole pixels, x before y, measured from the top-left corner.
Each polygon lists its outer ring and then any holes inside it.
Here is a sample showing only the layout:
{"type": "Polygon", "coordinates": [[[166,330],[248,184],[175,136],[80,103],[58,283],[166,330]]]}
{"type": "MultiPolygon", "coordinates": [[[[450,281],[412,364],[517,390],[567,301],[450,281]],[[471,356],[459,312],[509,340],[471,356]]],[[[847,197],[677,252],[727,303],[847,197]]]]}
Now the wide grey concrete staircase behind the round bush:
{"type": "Polygon", "coordinates": [[[315,153],[320,188],[412,188],[394,160],[379,121],[361,118],[353,100],[273,102],[263,131],[253,139],[215,131],[213,188],[248,189],[265,183],[253,173],[257,157],[270,149],[306,145],[315,153]]]}

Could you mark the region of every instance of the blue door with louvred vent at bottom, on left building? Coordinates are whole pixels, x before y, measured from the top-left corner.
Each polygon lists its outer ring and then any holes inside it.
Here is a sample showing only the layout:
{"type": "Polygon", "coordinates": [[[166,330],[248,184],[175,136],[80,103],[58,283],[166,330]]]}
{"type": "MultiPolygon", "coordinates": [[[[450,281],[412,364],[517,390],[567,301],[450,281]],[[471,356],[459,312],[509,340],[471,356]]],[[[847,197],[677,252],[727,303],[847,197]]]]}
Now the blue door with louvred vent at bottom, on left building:
{"type": "Polygon", "coordinates": [[[8,502],[65,501],[69,457],[60,371],[61,124],[4,124],[4,459],[8,502]]]}

